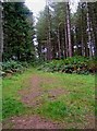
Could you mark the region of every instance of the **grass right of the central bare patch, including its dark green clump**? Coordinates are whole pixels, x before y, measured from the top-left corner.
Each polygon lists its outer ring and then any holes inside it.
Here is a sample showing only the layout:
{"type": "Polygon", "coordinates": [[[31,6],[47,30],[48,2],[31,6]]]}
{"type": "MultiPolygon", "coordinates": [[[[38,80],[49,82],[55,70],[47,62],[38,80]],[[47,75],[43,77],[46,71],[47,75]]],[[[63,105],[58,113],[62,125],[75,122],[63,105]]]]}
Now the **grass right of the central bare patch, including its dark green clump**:
{"type": "Polygon", "coordinates": [[[83,121],[87,114],[95,112],[95,75],[45,73],[41,74],[58,81],[44,83],[43,88],[61,87],[69,94],[62,94],[56,100],[49,102],[37,108],[37,112],[54,120],[83,121]]]}

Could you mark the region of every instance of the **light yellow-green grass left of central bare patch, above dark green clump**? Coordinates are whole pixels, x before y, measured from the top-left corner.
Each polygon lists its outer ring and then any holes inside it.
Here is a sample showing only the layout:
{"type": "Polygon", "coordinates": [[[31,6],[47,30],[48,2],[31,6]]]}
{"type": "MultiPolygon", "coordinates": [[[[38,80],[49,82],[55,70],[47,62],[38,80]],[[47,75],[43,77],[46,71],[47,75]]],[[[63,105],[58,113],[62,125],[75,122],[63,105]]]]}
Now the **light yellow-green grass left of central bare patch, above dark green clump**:
{"type": "Polygon", "coordinates": [[[2,96],[19,98],[17,91],[28,87],[28,79],[33,75],[34,69],[28,69],[23,74],[15,74],[11,78],[4,78],[2,81],[2,96]]]}

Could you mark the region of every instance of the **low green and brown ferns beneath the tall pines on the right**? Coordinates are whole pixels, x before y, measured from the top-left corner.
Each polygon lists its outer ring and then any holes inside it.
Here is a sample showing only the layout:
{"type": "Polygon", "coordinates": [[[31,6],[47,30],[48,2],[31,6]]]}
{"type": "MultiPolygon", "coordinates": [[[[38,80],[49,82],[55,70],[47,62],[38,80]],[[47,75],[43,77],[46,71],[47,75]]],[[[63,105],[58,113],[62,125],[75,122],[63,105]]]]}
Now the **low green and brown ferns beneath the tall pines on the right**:
{"type": "Polygon", "coordinates": [[[88,74],[95,73],[97,71],[97,61],[90,60],[84,57],[73,57],[63,60],[52,60],[50,62],[45,62],[38,70],[44,70],[47,72],[65,72],[65,73],[78,73],[88,74]]]}

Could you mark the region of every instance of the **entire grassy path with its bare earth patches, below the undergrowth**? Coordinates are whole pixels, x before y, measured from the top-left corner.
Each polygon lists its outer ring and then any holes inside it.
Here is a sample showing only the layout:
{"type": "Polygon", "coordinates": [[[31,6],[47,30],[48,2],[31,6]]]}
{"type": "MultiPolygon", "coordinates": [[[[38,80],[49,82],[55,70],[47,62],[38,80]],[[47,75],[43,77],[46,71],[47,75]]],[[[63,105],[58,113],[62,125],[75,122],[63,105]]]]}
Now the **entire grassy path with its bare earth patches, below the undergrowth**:
{"type": "Polygon", "coordinates": [[[4,129],[92,129],[95,75],[28,69],[3,79],[4,129]]]}

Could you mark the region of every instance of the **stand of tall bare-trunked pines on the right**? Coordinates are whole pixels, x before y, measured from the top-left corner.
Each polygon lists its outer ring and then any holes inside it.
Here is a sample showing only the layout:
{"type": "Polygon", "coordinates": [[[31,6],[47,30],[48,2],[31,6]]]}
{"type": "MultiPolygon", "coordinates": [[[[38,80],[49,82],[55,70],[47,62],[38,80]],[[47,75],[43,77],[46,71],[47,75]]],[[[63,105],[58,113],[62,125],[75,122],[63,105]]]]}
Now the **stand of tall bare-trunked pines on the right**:
{"type": "Polygon", "coordinates": [[[69,2],[48,2],[36,24],[39,57],[45,48],[47,53],[41,58],[46,60],[96,57],[96,2],[80,2],[76,12],[71,13],[69,2]]]}

